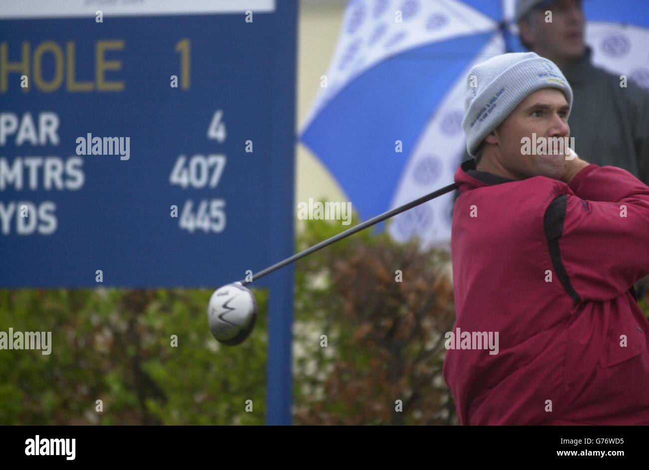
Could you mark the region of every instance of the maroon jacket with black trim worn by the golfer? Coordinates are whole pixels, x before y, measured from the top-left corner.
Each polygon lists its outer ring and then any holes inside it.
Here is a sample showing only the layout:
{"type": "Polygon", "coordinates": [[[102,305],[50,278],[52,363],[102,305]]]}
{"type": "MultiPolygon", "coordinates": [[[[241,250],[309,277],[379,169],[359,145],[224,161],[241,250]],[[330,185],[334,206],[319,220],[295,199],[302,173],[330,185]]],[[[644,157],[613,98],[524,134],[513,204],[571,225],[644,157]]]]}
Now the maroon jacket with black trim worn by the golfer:
{"type": "Polygon", "coordinates": [[[443,377],[461,423],[649,425],[649,322],[633,291],[649,274],[649,187],[594,164],[569,185],[509,180],[474,159],[455,181],[458,337],[443,377]]]}

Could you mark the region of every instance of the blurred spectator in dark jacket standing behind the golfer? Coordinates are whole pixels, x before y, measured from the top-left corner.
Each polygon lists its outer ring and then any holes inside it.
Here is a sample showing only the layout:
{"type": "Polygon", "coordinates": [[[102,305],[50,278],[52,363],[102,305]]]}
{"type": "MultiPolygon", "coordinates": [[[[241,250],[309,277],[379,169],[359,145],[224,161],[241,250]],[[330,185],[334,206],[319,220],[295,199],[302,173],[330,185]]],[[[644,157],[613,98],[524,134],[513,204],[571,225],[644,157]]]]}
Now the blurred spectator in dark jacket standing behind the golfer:
{"type": "Polygon", "coordinates": [[[649,92],[631,80],[621,87],[619,75],[591,64],[582,0],[517,0],[515,18],[522,44],[557,64],[572,87],[568,124],[577,153],[649,185],[649,92]]]}

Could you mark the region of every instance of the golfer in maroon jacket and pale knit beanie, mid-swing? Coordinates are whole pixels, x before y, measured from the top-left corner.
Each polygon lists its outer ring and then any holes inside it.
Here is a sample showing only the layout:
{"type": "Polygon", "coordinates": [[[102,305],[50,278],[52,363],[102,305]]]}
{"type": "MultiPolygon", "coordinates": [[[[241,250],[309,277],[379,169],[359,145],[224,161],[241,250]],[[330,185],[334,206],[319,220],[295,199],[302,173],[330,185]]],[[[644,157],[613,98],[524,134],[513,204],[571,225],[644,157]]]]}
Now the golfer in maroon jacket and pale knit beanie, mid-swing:
{"type": "Polygon", "coordinates": [[[649,274],[649,187],[544,150],[570,137],[571,106],[535,53],[469,73],[474,159],[455,174],[451,244],[459,337],[443,367],[464,425],[649,425],[649,322],[633,291],[649,274]]]}

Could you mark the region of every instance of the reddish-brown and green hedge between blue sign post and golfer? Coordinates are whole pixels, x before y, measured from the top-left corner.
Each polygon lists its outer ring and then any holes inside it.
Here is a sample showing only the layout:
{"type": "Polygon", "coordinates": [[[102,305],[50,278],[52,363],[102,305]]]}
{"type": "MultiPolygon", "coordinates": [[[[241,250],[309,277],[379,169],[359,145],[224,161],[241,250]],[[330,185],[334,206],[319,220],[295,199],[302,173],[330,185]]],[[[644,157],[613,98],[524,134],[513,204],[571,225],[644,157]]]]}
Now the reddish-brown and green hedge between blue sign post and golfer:
{"type": "MultiPolygon", "coordinates": [[[[298,249],[339,231],[307,221],[298,249]]],[[[368,230],[298,263],[295,423],[456,423],[441,377],[454,324],[450,254],[368,230]]]]}

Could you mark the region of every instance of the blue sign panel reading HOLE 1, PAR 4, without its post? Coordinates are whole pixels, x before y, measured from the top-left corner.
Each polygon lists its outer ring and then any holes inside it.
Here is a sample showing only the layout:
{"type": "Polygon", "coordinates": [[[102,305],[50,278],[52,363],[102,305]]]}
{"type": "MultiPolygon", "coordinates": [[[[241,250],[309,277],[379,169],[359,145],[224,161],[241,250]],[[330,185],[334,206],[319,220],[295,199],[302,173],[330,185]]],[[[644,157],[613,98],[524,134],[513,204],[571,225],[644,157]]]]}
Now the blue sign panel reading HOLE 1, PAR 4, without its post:
{"type": "Polygon", "coordinates": [[[215,287],[292,254],[296,9],[3,1],[0,287],[215,287]]]}

